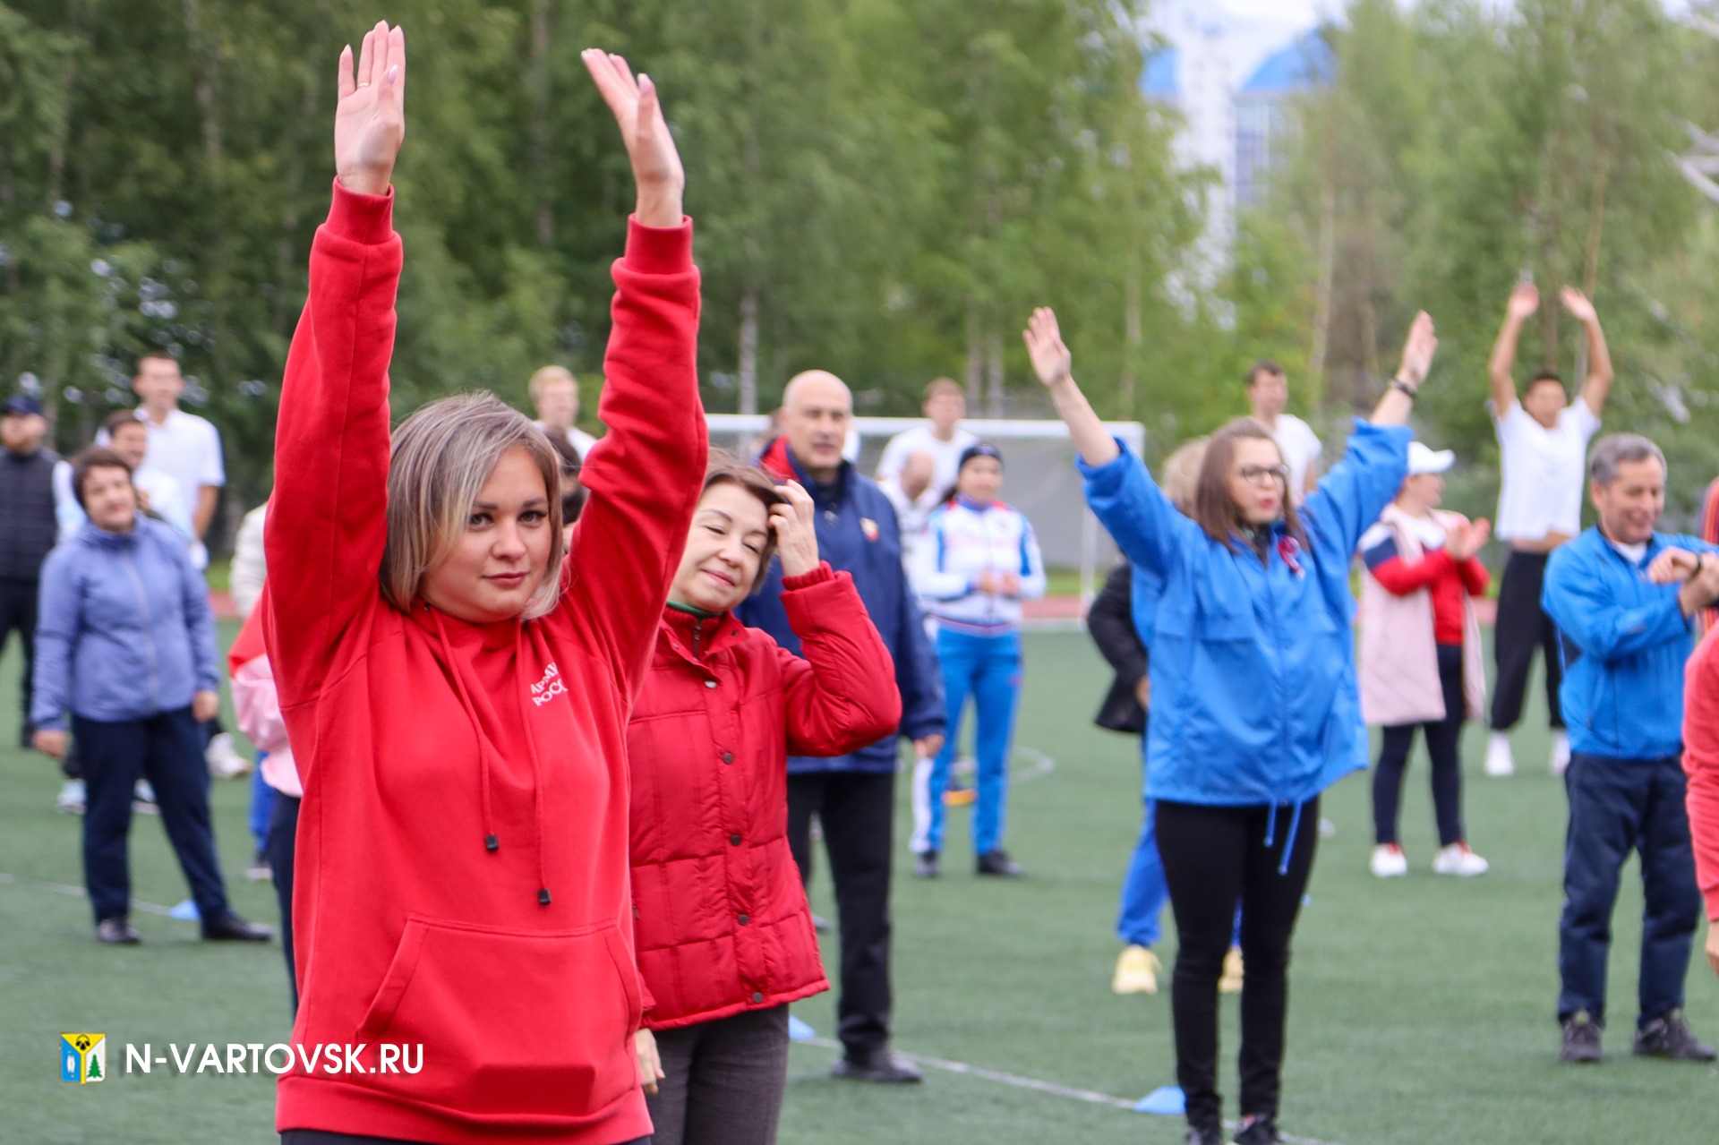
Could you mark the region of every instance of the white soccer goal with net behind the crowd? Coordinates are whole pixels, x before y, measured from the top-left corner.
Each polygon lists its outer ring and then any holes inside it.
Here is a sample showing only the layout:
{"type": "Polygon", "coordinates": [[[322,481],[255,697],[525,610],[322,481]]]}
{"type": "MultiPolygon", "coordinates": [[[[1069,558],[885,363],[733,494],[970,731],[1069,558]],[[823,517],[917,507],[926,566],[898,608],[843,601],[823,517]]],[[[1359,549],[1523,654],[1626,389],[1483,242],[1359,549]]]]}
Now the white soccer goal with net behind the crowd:
{"type": "MultiPolygon", "coordinates": [[[[753,456],[770,432],[768,414],[707,414],[710,444],[753,456]]],[[[921,418],[854,418],[860,435],[860,471],[877,469],[884,445],[902,430],[925,425],[921,418]]],[[[1116,542],[1086,509],[1074,445],[1061,421],[1014,418],[968,418],[961,428],[1002,450],[1002,497],[1026,514],[1038,535],[1047,569],[1080,572],[1081,600],[1092,600],[1098,578],[1116,562],[1116,542]]],[[[1138,421],[1107,421],[1105,428],[1145,456],[1147,430],[1138,421]]]]}

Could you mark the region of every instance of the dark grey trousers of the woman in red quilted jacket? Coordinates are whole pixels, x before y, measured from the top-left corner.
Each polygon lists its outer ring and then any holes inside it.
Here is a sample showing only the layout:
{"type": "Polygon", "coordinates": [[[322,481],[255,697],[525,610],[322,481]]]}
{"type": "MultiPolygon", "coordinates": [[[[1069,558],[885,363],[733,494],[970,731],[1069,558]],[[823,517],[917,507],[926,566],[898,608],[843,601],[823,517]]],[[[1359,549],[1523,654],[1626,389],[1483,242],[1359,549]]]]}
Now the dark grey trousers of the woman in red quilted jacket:
{"type": "Polygon", "coordinates": [[[787,1006],[657,1033],[652,1145],[774,1145],[787,1088],[787,1006]]]}

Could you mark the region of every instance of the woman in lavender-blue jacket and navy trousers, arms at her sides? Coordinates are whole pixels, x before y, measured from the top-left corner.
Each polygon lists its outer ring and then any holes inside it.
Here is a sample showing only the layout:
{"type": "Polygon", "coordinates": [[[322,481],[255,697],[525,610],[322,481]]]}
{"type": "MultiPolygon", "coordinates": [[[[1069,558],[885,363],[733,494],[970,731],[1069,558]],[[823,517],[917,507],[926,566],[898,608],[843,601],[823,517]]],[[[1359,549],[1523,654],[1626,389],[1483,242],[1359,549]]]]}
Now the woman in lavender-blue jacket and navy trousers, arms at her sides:
{"type": "Polygon", "coordinates": [[[138,511],[131,466],[108,449],[72,462],[88,521],[41,569],[36,624],[36,748],[65,755],[65,715],[84,765],[84,885],[96,937],[136,944],[131,913],[131,791],[148,779],[191,884],[205,939],[266,940],[227,906],[198,722],[220,707],[215,617],[184,540],[138,511]]]}

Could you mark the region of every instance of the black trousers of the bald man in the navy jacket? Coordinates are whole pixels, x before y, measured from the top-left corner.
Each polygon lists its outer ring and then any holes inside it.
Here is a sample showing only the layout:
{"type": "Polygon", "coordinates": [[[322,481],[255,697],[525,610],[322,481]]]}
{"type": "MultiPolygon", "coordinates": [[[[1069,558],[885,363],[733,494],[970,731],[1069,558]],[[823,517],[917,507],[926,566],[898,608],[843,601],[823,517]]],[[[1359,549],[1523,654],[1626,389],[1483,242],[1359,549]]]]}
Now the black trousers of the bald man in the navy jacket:
{"type": "Polygon", "coordinates": [[[811,880],[811,817],[835,884],[842,973],[837,1037],[849,1057],[889,1044],[889,863],[896,825],[894,772],[806,772],[787,777],[787,846],[811,880]]]}

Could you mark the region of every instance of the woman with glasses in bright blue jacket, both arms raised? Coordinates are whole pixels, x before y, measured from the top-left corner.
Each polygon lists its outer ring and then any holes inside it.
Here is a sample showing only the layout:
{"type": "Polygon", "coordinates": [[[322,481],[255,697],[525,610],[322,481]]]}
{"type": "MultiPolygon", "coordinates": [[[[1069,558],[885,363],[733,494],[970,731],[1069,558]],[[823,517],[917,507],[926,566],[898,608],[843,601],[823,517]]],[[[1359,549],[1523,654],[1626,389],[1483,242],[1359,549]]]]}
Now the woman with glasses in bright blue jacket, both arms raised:
{"type": "Polygon", "coordinates": [[[1162,579],[1152,634],[1147,793],[1179,949],[1171,1007],[1190,1145],[1220,1145],[1217,982],[1241,903],[1241,1130],[1274,1145],[1289,937],[1313,866],[1318,796],[1367,767],[1349,562],[1408,471],[1408,419],[1437,339],[1418,315],[1403,366],[1348,456],[1298,511],[1270,432],[1238,419],[1207,447],[1193,514],[1112,438],[1069,373],[1049,309],[1026,328],[1069,426],[1086,502],[1162,579]]]}

